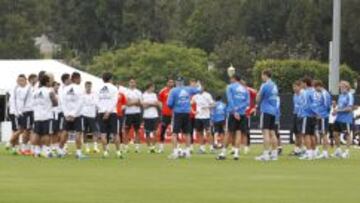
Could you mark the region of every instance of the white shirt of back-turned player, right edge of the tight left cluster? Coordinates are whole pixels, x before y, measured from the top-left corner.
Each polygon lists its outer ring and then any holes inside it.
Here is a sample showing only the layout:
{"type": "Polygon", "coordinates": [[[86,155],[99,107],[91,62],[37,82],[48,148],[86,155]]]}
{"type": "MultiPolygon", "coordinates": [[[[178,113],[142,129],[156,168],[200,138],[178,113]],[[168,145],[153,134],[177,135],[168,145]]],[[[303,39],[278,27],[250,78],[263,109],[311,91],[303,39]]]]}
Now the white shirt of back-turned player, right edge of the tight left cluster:
{"type": "Polygon", "coordinates": [[[64,116],[79,117],[81,115],[81,109],[83,107],[83,94],[84,91],[77,84],[70,84],[62,90],[61,97],[61,109],[64,112],[64,116]]]}

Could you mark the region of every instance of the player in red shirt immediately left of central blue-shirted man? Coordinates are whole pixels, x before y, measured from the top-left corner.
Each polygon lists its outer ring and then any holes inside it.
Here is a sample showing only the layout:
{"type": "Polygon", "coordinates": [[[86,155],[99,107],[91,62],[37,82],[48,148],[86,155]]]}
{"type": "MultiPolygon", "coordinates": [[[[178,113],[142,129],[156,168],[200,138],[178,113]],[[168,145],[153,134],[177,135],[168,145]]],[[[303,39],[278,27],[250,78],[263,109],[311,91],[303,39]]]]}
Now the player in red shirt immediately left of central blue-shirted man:
{"type": "Polygon", "coordinates": [[[164,151],[165,133],[168,126],[171,124],[172,111],[167,105],[168,96],[175,83],[173,79],[168,79],[166,87],[164,87],[158,95],[158,99],[162,104],[161,108],[161,128],[160,128],[160,146],[159,153],[164,151]]]}

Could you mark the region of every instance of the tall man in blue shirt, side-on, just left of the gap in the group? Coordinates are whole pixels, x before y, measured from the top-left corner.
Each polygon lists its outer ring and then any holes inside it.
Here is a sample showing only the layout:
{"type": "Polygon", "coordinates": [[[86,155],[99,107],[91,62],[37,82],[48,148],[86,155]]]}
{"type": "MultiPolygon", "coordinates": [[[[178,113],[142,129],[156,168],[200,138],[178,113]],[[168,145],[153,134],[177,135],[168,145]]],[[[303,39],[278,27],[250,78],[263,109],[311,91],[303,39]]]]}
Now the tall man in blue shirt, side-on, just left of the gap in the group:
{"type": "Polygon", "coordinates": [[[278,88],[277,85],[271,80],[270,70],[264,70],[261,74],[261,78],[263,80],[263,84],[260,87],[256,101],[260,106],[260,128],[263,131],[264,152],[255,159],[258,161],[277,160],[278,142],[275,135],[275,120],[278,110],[278,88]]]}

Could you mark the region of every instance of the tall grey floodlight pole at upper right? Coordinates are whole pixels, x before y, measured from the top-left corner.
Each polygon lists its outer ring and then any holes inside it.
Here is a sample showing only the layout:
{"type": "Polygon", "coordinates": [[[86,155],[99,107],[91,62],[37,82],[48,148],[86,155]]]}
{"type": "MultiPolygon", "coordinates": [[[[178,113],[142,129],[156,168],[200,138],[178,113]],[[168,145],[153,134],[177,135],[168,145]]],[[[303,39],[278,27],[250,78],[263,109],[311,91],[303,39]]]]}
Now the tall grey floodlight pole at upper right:
{"type": "Polygon", "coordinates": [[[341,30],[341,0],[333,0],[333,33],[330,45],[329,90],[331,94],[339,94],[340,80],[340,30],[341,30]]]}

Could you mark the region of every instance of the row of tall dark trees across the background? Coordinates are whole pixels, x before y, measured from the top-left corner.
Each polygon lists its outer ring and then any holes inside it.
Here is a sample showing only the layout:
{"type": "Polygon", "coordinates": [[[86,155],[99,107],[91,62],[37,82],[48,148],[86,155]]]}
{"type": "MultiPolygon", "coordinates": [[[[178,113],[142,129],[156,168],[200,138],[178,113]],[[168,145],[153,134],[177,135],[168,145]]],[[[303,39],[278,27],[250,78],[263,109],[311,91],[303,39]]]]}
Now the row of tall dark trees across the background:
{"type": "MultiPolygon", "coordinates": [[[[358,72],[359,18],[360,1],[342,1],[342,63],[358,72]]],[[[327,61],[331,27],[331,0],[0,0],[0,57],[41,57],[42,33],[83,68],[134,42],[176,41],[251,76],[260,59],[327,61]]]]}

